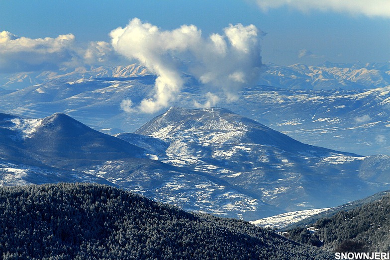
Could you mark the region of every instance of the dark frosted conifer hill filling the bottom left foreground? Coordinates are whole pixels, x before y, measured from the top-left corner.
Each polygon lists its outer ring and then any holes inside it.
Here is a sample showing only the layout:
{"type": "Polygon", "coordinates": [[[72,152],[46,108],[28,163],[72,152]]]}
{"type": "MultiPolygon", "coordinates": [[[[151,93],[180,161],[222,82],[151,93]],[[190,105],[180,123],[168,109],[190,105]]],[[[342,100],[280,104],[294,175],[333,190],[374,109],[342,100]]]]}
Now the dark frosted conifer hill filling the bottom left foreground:
{"type": "Polygon", "coordinates": [[[2,259],[333,259],[248,222],[98,184],[0,188],[2,259]]]}

